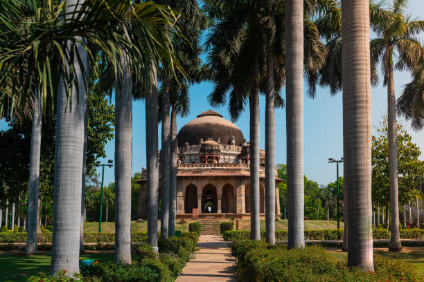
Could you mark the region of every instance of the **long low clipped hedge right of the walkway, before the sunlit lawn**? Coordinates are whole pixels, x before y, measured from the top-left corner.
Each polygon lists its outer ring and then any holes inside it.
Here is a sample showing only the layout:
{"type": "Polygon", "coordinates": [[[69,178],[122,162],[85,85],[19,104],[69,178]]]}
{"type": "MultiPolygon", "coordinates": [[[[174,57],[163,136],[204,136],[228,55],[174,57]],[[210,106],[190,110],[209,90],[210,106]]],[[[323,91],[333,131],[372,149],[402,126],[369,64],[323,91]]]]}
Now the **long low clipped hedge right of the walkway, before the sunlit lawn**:
{"type": "MultiPolygon", "coordinates": [[[[249,231],[243,230],[229,230],[222,233],[224,241],[234,241],[236,239],[248,239],[250,237],[249,231]]],[[[279,230],[275,232],[276,240],[288,240],[288,232],[286,230],[279,230]]],[[[265,231],[260,232],[260,238],[265,238],[265,231]]],[[[387,229],[373,229],[374,239],[389,239],[390,231],[387,229]]],[[[401,239],[423,239],[424,229],[400,229],[401,239]]],[[[307,240],[342,240],[343,229],[306,229],[305,239],[307,240]]]]}

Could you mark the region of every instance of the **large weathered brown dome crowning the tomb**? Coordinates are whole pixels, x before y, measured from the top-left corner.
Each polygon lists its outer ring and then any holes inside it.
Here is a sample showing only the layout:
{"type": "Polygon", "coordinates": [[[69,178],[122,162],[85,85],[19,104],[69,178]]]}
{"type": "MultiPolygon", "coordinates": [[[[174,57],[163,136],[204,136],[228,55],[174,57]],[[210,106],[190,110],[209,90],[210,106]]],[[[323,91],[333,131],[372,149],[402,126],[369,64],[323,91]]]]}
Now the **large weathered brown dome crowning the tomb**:
{"type": "Polygon", "coordinates": [[[184,146],[186,142],[195,145],[200,144],[201,139],[218,140],[220,138],[220,144],[231,144],[231,137],[234,138],[236,145],[242,146],[243,133],[236,124],[225,120],[219,113],[209,110],[197,115],[195,120],[184,125],[179,130],[177,142],[179,146],[184,146]]]}

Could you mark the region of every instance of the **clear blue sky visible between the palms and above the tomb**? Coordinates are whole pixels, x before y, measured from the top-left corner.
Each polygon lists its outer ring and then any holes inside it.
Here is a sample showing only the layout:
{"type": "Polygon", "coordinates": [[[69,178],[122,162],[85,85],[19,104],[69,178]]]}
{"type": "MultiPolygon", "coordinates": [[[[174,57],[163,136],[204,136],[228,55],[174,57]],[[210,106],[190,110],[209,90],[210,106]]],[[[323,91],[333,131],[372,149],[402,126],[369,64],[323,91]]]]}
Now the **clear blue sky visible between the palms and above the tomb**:
{"type": "MultiPolygon", "coordinates": [[[[423,17],[424,1],[410,0],[407,12],[412,17],[423,17]],[[421,14],[421,15],[420,15],[421,14]]],[[[373,35],[371,35],[372,37],[373,35]]],[[[424,36],[421,36],[424,39],[424,36]]],[[[400,95],[402,86],[410,81],[409,73],[395,73],[396,97],[400,95]]],[[[224,118],[229,119],[227,107],[212,108],[207,102],[207,95],[211,93],[213,85],[203,82],[190,88],[190,115],[186,118],[177,119],[177,127],[180,129],[187,122],[195,119],[196,115],[208,109],[214,109],[221,113],[224,118]]],[[[306,93],[305,88],[305,93],[306,93]]],[[[284,90],[282,91],[285,96],[284,90]]],[[[372,89],[372,124],[373,131],[378,122],[387,113],[387,89],[380,86],[372,89]]],[[[132,173],[141,171],[145,167],[145,107],[142,101],[133,104],[133,135],[132,135],[132,173]]],[[[409,122],[399,119],[407,129],[409,122]]],[[[240,115],[236,122],[245,138],[249,139],[249,113],[246,111],[240,115]]],[[[4,128],[4,122],[0,123],[4,128]]],[[[160,125],[159,125],[160,129],[160,125]]],[[[411,133],[413,142],[421,147],[424,160],[424,131],[411,133]]],[[[329,157],[340,158],[343,153],[342,140],[342,95],[330,96],[328,89],[319,88],[317,97],[310,99],[305,94],[304,100],[304,149],[305,149],[305,175],[322,185],[335,181],[335,164],[328,164],[329,157]]],[[[285,109],[276,110],[276,163],[286,162],[286,140],[285,140],[285,109]]],[[[160,147],[160,130],[159,130],[160,147]]],[[[106,144],[107,159],[114,158],[114,140],[106,144]]],[[[265,97],[260,97],[260,148],[265,149],[265,97]]],[[[103,161],[103,160],[102,160],[103,161]]],[[[341,167],[341,175],[343,174],[341,167]]],[[[98,170],[100,173],[101,171],[98,170]]],[[[105,184],[114,182],[114,169],[105,168],[105,184]]]]}

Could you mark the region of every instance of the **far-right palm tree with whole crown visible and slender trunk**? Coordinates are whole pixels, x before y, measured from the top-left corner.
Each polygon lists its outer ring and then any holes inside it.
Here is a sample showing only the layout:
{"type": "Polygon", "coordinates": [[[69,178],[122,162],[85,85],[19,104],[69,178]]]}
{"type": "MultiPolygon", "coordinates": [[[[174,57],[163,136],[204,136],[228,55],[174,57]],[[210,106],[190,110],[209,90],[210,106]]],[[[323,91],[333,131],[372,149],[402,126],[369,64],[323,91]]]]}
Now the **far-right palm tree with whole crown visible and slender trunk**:
{"type": "MultiPolygon", "coordinates": [[[[394,68],[402,71],[412,70],[424,54],[418,39],[413,36],[424,30],[424,21],[410,21],[404,15],[407,0],[394,0],[389,10],[374,8],[371,12],[371,23],[378,38],[371,40],[371,57],[382,62],[382,72],[387,85],[387,112],[389,142],[389,174],[390,174],[390,207],[391,236],[389,250],[400,252],[399,234],[399,189],[398,189],[398,148],[396,141],[396,100],[394,91],[394,68]],[[393,10],[391,10],[393,8],[393,10]],[[398,62],[394,64],[394,52],[398,53],[398,62]]],[[[389,218],[389,216],[387,216],[389,218]]]]}

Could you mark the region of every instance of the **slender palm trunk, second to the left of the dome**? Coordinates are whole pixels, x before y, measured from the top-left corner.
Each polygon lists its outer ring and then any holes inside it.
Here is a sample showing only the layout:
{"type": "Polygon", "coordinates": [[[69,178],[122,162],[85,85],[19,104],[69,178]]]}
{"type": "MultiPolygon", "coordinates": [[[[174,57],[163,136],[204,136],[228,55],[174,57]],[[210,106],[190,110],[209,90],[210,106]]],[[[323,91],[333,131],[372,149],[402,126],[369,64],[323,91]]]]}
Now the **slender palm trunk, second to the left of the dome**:
{"type": "Polygon", "coordinates": [[[162,138],[161,138],[161,238],[168,238],[170,194],[170,121],[169,77],[165,73],[162,82],[162,138]]]}

